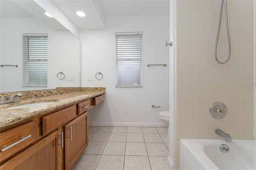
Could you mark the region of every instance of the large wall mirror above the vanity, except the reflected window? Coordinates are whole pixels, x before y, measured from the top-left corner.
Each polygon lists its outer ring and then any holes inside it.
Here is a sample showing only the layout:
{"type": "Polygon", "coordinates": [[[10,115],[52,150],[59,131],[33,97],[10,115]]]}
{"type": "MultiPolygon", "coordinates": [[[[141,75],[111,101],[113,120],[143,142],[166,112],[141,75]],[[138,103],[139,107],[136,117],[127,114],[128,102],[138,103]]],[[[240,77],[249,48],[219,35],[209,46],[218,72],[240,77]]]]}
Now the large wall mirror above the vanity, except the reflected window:
{"type": "Polygon", "coordinates": [[[0,17],[0,65],[18,65],[0,67],[0,93],[80,86],[76,36],[32,0],[1,0],[0,17]],[[22,87],[22,34],[48,34],[47,87],[22,87]]]}

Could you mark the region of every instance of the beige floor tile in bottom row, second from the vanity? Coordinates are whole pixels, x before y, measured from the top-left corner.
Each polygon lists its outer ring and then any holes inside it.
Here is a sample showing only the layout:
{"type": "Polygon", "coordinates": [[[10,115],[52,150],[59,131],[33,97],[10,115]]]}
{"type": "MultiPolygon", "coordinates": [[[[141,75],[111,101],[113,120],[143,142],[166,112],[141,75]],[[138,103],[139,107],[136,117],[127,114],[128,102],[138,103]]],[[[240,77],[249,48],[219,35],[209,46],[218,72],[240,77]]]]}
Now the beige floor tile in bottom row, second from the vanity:
{"type": "Polygon", "coordinates": [[[102,155],[96,170],[123,170],[124,156],[102,155]]]}

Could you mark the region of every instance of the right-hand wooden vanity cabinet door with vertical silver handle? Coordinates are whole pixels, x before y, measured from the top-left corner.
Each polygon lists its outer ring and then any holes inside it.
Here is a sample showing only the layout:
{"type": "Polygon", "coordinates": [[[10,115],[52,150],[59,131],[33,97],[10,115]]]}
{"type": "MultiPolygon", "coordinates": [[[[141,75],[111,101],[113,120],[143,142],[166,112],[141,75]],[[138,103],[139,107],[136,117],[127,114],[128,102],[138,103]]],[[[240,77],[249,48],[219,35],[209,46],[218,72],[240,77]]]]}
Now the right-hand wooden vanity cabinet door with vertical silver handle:
{"type": "Polygon", "coordinates": [[[88,145],[88,112],[65,126],[65,169],[70,170],[88,145]]]}

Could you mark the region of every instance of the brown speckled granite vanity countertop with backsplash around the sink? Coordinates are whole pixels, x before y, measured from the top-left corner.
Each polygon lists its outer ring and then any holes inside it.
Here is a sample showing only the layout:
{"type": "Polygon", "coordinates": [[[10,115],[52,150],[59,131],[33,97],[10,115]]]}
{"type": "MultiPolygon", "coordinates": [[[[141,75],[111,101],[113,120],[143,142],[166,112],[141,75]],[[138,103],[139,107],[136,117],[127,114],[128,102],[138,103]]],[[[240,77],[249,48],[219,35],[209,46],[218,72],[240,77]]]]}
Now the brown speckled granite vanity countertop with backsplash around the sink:
{"type": "Polygon", "coordinates": [[[104,94],[104,87],[74,87],[74,88],[57,88],[39,91],[23,91],[15,93],[0,93],[7,98],[16,93],[22,93],[20,102],[0,105],[0,128],[12,125],[30,119],[32,117],[60,109],[66,105],[72,105],[84,101],[85,99],[104,94]],[[19,109],[8,109],[10,107],[40,103],[54,102],[47,105],[36,107],[26,107],[19,109]]]}

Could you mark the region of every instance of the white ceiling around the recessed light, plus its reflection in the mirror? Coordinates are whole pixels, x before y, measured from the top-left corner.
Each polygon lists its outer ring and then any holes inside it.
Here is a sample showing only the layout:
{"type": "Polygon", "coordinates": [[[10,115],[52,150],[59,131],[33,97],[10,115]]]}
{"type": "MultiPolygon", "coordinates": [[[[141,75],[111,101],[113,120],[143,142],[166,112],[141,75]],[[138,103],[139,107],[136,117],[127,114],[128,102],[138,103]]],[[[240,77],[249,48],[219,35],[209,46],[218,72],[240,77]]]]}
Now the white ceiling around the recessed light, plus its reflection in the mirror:
{"type": "MultiPolygon", "coordinates": [[[[169,0],[48,1],[51,1],[55,8],[58,8],[79,30],[104,30],[106,29],[106,18],[108,16],[169,15],[169,0]],[[76,11],[78,10],[85,12],[86,17],[77,16],[76,11]]],[[[1,18],[32,17],[24,9],[20,9],[19,5],[12,0],[0,0],[0,6],[1,18]],[[11,5],[11,7],[8,7],[8,5],[11,5]],[[2,12],[2,10],[5,12],[2,12]]]]}

